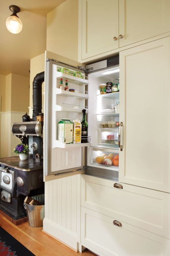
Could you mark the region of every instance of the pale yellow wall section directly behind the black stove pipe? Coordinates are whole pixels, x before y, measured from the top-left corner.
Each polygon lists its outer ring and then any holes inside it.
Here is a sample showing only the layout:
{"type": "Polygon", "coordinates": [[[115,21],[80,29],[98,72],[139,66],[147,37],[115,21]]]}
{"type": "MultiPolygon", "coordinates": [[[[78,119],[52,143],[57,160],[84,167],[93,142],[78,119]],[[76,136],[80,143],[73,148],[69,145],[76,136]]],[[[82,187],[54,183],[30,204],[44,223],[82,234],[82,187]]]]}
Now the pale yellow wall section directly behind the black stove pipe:
{"type": "MultiPolygon", "coordinates": [[[[45,71],[45,53],[40,54],[30,60],[30,107],[33,106],[33,80],[36,74],[45,71]]],[[[44,92],[44,83],[42,84],[42,93],[44,92]]],[[[42,97],[42,104],[44,95],[42,97]]],[[[31,113],[30,113],[31,115],[31,113]]]]}

